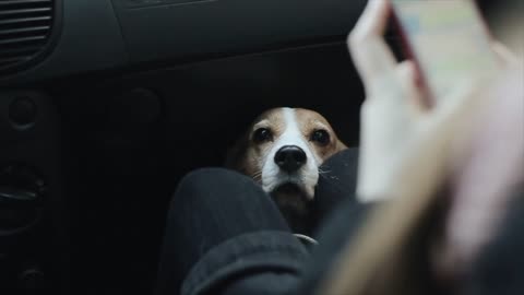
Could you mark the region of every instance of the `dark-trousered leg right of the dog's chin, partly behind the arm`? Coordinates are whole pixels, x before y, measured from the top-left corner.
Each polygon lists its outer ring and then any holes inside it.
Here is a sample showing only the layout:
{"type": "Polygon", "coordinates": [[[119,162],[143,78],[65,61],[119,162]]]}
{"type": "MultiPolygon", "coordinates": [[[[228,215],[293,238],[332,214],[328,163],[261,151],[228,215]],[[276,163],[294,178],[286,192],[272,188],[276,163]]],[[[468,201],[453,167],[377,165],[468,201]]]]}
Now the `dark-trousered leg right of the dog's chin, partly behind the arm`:
{"type": "Polygon", "coordinates": [[[314,238],[319,245],[306,263],[300,282],[291,294],[317,293],[319,283],[336,263],[341,251],[354,238],[366,221],[372,205],[359,203],[356,199],[358,149],[344,150],[322,166],[322,176],[312,204],[315,223],[314,238]]]}

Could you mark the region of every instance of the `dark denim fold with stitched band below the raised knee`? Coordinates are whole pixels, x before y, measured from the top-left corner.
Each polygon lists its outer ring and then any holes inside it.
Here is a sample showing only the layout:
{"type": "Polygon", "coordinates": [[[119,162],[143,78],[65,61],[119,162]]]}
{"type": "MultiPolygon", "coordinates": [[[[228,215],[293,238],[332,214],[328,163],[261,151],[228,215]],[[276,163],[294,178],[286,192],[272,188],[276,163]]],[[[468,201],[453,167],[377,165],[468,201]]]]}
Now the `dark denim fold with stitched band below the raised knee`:
{"type": "Polygon", "coordinates": [[[272,291],[281,294],[295,285],[308,257],[309,252],[287,232],[255,232],[236,236],[214,247],[200,259],[186,278],[181,294],[215,294],[224,287],[235,290],[228,282],[246,280],[239,278],[249,278],[251,284],[246,286],[252,288],[252,292],[265,290],[273,281],[258,286],[252,284],[255,283],[253,278],[266,274],[276,280],[272,291]],[[284,281],[286,278],[287,281],[284,281]]]}

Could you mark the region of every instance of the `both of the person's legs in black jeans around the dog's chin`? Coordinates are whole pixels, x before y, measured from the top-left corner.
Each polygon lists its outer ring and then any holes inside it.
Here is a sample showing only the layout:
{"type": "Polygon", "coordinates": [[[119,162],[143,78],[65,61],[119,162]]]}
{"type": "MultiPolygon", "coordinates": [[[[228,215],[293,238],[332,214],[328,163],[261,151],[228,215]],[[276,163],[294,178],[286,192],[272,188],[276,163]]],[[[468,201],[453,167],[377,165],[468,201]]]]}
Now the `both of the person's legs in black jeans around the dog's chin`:
{"type": "Polygon", "coordinates": [[[358,224],[347,219],[362,215],[354,199],[357,153],[346,150],[321,167],[312,217],[320,224],[337,206],[343,214],[319,231],[326,237],[315,236],[315,259],[252,179],[219,168],[189,174],[170,204],[156,294],[305,294],[298,288],[315,285],[358,224]]]}

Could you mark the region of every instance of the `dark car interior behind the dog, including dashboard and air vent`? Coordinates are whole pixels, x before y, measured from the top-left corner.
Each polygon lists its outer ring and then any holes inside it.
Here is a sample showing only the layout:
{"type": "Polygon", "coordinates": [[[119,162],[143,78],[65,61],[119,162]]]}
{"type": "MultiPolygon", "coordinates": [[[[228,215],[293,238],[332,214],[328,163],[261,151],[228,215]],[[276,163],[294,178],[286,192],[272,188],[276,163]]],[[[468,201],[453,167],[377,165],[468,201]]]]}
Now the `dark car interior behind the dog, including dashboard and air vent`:
{"type": "Polygon", "coordinates": [[[0,0],[0,294],[152,294],[178,180],[265,109],[358,145],[365,4],[0,0]]]}

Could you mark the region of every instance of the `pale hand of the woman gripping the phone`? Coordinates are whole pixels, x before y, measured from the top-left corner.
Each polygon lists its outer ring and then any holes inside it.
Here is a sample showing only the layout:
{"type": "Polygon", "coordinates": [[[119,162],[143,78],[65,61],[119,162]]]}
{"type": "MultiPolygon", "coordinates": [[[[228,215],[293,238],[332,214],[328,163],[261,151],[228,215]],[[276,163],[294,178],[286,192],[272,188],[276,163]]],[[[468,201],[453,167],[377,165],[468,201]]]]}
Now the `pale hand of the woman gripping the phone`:
{"type": "Polygon", "coordinates": [[[396,62],[383,39],[389,1],[370,0],[348,46],[367,98],[361,108],[360,201],[430,192],[442,180],[450,141],[478,99],[462,85],[428,109],[412,61],[396,62]]]}

